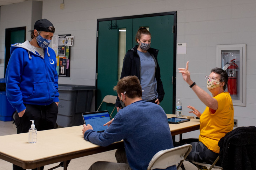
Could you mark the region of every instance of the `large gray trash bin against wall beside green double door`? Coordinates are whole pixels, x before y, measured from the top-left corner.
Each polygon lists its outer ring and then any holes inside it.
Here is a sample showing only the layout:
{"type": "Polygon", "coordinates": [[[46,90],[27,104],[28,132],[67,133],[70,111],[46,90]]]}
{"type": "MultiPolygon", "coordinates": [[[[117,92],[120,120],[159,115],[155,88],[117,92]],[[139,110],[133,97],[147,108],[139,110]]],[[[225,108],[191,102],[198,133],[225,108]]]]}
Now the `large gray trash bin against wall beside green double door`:
{"type": "Polygon", "coordinates": [[[56,123],[61,127],[83,124],[83,112],[90,112],[96,86],[59,84],[59,112],[56,123]]]}

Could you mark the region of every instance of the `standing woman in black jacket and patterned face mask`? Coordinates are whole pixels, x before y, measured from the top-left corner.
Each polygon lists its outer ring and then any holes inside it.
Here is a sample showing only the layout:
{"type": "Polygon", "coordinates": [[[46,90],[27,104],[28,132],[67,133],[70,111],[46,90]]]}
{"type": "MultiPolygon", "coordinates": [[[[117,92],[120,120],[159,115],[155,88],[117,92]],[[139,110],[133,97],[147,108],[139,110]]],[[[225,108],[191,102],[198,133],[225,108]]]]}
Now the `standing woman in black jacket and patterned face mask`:
{"type": "MultiPolygon", "coordinates": [[[[146,27],[139,28],[135,40],[139,45],[128,50],[124,56],[120,79],[129,75],[137,76],[142,87],[142,99],[160,104],[164,97],[164,90],[157,62],[158,50],[150,48],[151,34],[146,27]]],[[[124,106],[125,101],[121,104],[117,97],[117,111],[124,106]]]]}

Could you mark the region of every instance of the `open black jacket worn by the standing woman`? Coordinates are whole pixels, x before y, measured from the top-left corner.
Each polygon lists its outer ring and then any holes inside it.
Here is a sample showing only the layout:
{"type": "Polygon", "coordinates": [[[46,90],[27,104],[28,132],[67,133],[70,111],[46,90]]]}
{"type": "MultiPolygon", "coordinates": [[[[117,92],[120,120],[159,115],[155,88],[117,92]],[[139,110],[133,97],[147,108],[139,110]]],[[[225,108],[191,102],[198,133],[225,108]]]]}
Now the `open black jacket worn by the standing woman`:
{"type": "MultiPolygon", "coordinates": [[[[138,45],[136,45],[132,49],[128,50],[128,52],[124,56],[123,68],[122,68],[122,73],[121,73],[120,79],[122,79],[125,76],[135,75],[139,78],[139,80],[141,80],[141,76],[140,76],[141,65],[140,65],[140,57],[137,54],[137,47],[138,47],[138,45]]],[[[164,97],[164,90],[163,90],[163,83],[161,81],[161,76],[160,76],[160,68],[159,68],[159,65],[157,62],[158,50],[149,48],[147,51],[151,54],[151,56],[153,57],[153,59],[155,60],[155,63],[156,63],[156,69],[155,69],[155,77],[156,77],[156,82],[157,82],[156,91],[158,93],[157,98],[159,99],[159,102],[161,102],[164,97]]],[[[119,97],[117,97],[115,105],[117,107],[121,107],[119,97]]]]}

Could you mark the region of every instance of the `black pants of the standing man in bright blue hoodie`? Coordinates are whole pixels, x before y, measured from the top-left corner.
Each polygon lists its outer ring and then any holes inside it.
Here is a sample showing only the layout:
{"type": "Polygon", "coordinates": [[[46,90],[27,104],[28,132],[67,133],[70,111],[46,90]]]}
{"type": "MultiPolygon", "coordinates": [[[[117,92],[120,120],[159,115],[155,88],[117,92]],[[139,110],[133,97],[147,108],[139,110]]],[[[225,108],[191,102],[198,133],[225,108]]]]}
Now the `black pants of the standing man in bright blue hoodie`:
{"type": "MultiPolygon", "coordinates": [[[[22,117],[15,113],[15,125],[17,133],[27,133],[34,120],[35,128],[38,131],[53,129],[58,115],[58,106],[55,102],[47,106],[26,104],[26,110],[22,117]]],[[[37,168],[33,169],[36,170],[37,168]]],[[[13,164],[13,170],[24,170],[13,164]]],[[[42,167],[43,170],[43,167],[42,167]]]]}

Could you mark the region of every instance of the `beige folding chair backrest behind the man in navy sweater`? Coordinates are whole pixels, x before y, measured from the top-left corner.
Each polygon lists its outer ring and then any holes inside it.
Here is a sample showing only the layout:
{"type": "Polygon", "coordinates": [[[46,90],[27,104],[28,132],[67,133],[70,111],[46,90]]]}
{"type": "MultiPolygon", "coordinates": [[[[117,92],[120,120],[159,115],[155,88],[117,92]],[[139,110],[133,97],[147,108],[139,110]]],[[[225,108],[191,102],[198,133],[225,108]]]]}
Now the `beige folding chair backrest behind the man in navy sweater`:
{"type": "Polygon", "coordinates": [[[192,146],[190,144],[186,144],[171,149],[160,150],[149,162],[148,170],[156,168],[166,169],[167,167],[180,163],[177,166],[178,169],[190,153],[191,149],[192,146]]]}

